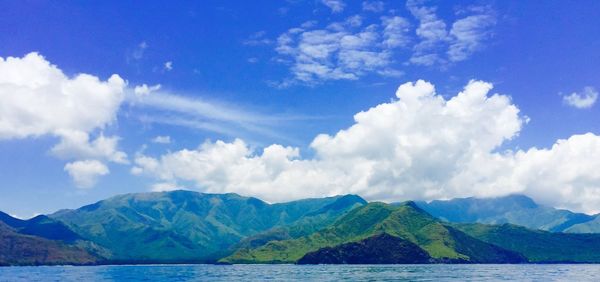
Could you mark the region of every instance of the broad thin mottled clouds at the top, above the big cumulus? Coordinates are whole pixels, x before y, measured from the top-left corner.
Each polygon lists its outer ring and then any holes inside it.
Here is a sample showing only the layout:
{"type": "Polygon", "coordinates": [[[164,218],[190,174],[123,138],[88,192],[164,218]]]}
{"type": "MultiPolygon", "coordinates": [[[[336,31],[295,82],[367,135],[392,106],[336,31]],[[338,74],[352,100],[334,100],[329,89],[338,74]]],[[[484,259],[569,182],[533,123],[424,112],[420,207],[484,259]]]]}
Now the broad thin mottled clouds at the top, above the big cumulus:
{"type": "MultiPolygon", "coordinates": [[[[383,9],[381,2],[363,2],[364,10],[380,7],[383,9]]],[[[289,65],[291,77],[270,84],[283,88],[356,80],[369,74],[398,76],[402,61],[446,67],[481,50],[496,23],[490,8],[471,7],[461,10],[457,16],[462,18],[450,21],[448,30],[437,16],[437,7],[411,0],[406,8],[418,21],[416,29],[403,17],[382,16],[379,22],[368,22],[370,19],[361,15],[321,27],[310,21],[290,28],[277,38],[275,51],[279,55],[276,61],[289,65]]],[[[264,33],[259,35],[264,38],[264,33]]]]}

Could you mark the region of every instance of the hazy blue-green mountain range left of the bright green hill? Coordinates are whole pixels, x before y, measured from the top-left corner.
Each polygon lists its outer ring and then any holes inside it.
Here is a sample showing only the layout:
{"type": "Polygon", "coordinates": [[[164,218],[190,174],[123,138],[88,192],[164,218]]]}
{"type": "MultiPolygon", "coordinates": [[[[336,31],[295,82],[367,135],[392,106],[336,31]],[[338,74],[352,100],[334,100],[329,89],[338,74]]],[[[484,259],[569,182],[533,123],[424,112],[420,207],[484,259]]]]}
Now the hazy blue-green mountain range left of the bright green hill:
{"type": "Polygon", "coordinates": [[[237,194],[127,194],[50,217],[108,249],[113,262],[211,262],[241,239],[287,226],[308,234],[366,202],[353,195],[268,204],[237,194]]]}

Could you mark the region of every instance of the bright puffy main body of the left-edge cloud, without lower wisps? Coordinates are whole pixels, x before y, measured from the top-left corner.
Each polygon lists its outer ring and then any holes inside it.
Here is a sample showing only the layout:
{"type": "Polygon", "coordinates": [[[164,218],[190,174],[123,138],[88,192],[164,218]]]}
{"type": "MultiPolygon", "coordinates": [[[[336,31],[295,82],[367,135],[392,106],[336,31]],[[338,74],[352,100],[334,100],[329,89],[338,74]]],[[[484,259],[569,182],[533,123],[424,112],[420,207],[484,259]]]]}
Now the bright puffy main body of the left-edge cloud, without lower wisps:
{"type": "Polygon", "coordinates": [[[0,57],[0,139],[103,128],[115,120],[124,87],[118,75],[69,78],[37,53],[0,57]]]}

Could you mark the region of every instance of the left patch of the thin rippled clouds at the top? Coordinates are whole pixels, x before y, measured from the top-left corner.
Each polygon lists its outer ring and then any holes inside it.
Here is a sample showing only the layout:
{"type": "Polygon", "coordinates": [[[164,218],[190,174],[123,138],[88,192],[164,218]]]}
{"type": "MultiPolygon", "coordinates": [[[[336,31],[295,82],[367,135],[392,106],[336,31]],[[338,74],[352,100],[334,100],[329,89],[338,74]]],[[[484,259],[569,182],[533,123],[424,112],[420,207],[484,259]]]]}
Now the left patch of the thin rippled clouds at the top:
{"type": "Polygon", "coordinates": [[[392,48],[406,44],[408,22],[400,17],[381,20],[383,27],[375,24],[362,27],[362,18],[353,16],[324,29],[288,30],[279,36],[276,51],[291,65],[293,78],[279,86],[355,80],[391,69],[392,48]]]}

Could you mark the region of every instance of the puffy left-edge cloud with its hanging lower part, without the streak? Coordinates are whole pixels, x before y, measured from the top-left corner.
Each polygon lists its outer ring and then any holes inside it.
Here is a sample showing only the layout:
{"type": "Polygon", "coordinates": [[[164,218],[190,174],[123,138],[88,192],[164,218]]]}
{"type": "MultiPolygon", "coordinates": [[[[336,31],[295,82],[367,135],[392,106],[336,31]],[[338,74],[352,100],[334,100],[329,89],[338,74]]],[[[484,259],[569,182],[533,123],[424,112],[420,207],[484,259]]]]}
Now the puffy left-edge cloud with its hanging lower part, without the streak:
{"type": "MultiPolygon", "coordinates": [[[[61,158],[127,163],[117,150],[119,137],[90,138],[115,121],[125,86],[118,75],[106,81],[88,74],[68,77],[38,53],[0,58],[0,139],[50,135],[60,140],[51,152],[61,158]]],[[[69,167],[71,176],[80,168],[69,167]]]]}

